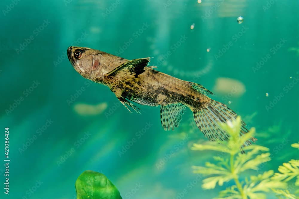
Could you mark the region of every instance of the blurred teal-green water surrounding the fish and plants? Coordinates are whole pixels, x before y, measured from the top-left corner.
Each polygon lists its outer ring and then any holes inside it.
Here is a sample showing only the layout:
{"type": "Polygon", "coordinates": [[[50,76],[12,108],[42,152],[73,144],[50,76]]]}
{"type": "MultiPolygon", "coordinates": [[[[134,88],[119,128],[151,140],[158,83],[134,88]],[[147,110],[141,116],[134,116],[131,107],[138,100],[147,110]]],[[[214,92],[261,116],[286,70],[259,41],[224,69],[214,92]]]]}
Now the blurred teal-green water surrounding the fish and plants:
{"type": "Polygon", "coordinates": [[[161,128],[158,107],[139,105],[142,114],[129,113],[107,87],[73,69],[66,56],[71,45],[126,59],[153,57],[157,70],[211,91],[219,77],[242,82],[241,96],[213,99],[231,101],[230,108],[256,127],[257,144],[270,148],[272,160],[240,178],[277,171],[283,162],[298,159],[290,147],[299,140],[298,1],[20,0],[0,5],[0,160],[4,127],[10,128],[11,160],[10,195],[3,194],[1,183],[0,198],[76,198],[74,183],[85,170],[105,174],[127,199],[212,198],[232,185],[202,190],[202,178],[192,173],[192,165],[204,165],[216,154],[190,150],[205,139],[194,128],[191,111],[174,131],[161,128]],[[242,24],[238,16],[244,17],[242,24]],[[258,62],[263,64],[255,70],[258,62]],[[38,86],[30,88],[34,81],[38,86]],[[82,116],[74,111],[78,103],[106,103],[107,108],[82,116]],[[51,125],[45,127],[47,120],[51,125]]]}

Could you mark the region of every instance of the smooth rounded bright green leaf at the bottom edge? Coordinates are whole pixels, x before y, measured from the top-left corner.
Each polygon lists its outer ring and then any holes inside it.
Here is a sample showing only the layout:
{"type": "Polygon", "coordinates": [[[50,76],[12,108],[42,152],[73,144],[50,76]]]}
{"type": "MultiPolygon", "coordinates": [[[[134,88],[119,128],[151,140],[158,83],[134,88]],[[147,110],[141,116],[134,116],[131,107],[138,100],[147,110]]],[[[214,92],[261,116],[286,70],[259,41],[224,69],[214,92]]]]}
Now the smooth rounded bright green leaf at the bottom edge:
{"type": "Polygon", "coordinates": [[[84,171],[75,186],[77,199],[122,199],[114,184],[99,172],[84,171]]]}

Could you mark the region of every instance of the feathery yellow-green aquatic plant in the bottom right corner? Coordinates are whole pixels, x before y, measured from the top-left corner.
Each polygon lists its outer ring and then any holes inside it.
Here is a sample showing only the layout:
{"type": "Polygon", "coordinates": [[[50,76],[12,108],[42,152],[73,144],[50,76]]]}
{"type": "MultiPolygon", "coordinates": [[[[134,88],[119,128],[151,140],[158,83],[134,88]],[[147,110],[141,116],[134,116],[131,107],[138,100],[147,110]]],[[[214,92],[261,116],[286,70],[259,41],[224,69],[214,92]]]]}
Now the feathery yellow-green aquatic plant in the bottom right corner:
{"type": "MultiPolygon", "coordinates": [[[[259,166],[270,161],[269,149],[263,146],[250,145],[243,146],[243,143],[254,136],[255,129],[240,136],[241,118],[238,116],[234,121],[221,123],[228,135],[228,141],[223,143],[205,142],[203,144],[193,144],[192,150],[213,150],[218,153],[213,159],[216,164],[206,162],[205,166],[193,166],[194,173],[206,176],[203,180],[203,189],[214,189],[216,184],[222,186],[225,182],[234,181],[234,185],[219,193],[219,198],[248,199],[266,198],[267,192],[280,195],[281,198],[294,198],[295,195],[285,190],[287,181],[298,175],[298,161],[292,160],[284,163],[279,168],[280,174],[274,174],[273,170],[265,171],[257,176],[245,177],[240,180],[240,176],[248,170],[258,170],[259,166]],[[240,148],[243,147],[245,154],[241,154],[240,148]]],[[[295,145],[299,147],[299,144],[295,145]]],[[[298,182],[296,182],[298,183],[298,182]]]]}

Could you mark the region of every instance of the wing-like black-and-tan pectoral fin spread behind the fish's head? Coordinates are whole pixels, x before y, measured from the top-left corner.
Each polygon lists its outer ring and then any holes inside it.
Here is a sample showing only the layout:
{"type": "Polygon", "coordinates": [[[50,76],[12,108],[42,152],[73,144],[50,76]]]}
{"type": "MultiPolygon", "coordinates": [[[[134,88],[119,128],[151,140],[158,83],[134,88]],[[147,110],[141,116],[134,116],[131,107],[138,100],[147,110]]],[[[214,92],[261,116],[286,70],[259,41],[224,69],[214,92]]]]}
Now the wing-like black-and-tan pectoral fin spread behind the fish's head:
{"type": "Polygon", "coordinates": [[[148,65],[150,58],[133,59],[116,67],[106,73],[106,78],[133,79],[144,72],[144,67],[148,65]]]}

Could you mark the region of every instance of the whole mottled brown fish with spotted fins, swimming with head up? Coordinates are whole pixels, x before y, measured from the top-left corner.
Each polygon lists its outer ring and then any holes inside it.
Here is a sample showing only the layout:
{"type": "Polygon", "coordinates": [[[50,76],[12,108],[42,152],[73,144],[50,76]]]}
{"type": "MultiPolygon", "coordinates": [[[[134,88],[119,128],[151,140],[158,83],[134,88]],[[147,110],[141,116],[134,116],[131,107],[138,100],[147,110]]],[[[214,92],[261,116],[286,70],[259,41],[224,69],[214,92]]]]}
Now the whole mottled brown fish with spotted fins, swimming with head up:
{"type": "MultiPolygon", "coordinates": [[[[160,106],[164,130],[179,127],[188,107],[196,126],[210,141],[228,140],[228,134],[219,123],[231,121],[237,114],[227,105],[211,99],[211,91],[204,86],[184,81],[149,66],[150,57],[128,60],[96,49],[70,46],[67,55],[74,69],[84,78],[106,85],[130,111],[140,113],[140,105],[160,106]]],[[[241,135],[248,132],[242,121],[241,135]]],[[[252,137],[243,146],[251,145],[252,137]]],[[[244,152],[243,150],[241,150],[244,152]]]]}

